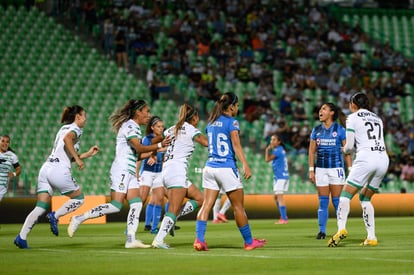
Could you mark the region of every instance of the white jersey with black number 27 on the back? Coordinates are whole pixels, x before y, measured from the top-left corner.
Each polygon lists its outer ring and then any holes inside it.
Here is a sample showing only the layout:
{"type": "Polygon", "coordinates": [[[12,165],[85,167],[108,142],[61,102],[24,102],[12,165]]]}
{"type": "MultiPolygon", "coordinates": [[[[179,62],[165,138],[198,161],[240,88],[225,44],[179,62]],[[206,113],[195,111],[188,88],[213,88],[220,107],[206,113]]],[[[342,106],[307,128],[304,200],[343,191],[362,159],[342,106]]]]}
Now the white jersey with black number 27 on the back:
{"type": "Polygon", "coordinates": [[[355,134],[357,156],[364,152],[387,154],[383,129],[381,118],[366,109],[350,114],[346,121],[346,130],[355,134]]]}

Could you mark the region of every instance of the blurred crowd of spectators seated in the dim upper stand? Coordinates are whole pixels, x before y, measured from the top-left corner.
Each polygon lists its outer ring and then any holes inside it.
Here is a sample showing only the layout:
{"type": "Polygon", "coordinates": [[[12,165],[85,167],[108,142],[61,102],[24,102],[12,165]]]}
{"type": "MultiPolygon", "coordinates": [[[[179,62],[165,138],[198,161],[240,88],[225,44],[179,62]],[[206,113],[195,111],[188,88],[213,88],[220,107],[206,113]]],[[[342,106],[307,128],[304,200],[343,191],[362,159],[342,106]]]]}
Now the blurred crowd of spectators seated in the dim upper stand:
{"type": "Polygon", "coordinates": [[[413,158],[414,121],[404,123],[398,108],[414,85],[412,63],[390,41],[373,41],[358,22],[333,18],[329,6],[287,0],[51,2],[52,16],[71,20],[108,58],[140,77],[149,66],[137,60],[153,56],[160,79],[185,75],[199,99],[217,99],[218,81],[254,83],[243,94],[241,115],[263,120],[263,138],[277,132],[294,153],[307,153],[323,102],[333,98],[348,114],[350,94],[361,90],[385,121],[390,172],[400,177],[413,158]]]}

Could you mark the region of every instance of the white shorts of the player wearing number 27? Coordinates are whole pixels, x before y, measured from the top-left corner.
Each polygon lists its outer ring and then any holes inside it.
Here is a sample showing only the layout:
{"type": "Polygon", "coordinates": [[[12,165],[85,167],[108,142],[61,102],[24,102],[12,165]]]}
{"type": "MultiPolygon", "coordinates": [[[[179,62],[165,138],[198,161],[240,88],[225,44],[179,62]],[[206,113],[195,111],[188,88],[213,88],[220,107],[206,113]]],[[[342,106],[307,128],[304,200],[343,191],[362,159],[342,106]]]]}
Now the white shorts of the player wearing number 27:
{"type": "Polygon", "coordinates": [[[379,154],[375,161],[369,158],[356,158],[352,164],[351,172],[348,175],[347,182],[355,187],[368,186],[371,189],[378,190],[382,179],[388,171],[388,156],[379,154]]]}

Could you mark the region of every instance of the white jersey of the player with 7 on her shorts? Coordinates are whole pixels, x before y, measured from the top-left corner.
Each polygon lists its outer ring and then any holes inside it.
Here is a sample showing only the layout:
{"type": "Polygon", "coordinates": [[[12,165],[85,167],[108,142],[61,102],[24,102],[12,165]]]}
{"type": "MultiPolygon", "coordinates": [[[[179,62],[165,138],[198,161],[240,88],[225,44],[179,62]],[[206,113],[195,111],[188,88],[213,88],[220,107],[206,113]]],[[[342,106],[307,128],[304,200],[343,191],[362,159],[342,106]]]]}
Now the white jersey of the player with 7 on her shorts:
{"type": "Polygon", "coordinates": [[[115,160],[112,169],[136,175],[138,152],[129,144],[132,138],[142,139],[141,128],[132,119],[124,122],[116,136],[115,160]]]}

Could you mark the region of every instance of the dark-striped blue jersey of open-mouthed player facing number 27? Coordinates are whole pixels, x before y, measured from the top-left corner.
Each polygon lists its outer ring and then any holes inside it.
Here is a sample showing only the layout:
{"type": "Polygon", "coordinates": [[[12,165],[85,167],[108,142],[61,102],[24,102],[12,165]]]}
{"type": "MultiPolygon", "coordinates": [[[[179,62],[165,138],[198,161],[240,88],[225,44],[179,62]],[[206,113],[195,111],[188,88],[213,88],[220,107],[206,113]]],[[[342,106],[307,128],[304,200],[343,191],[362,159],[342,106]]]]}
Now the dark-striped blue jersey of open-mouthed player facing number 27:
{"type": "Polygon", "coordinates": [[[311,140],[316,142],[316,167],[344,168],[342,141],[346,139],[344,127],[337,122],[329,129],[322,124],[316,126],[311,133],[311,140]]]}

